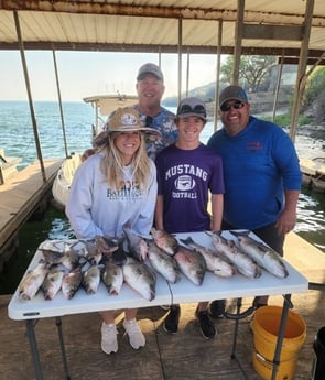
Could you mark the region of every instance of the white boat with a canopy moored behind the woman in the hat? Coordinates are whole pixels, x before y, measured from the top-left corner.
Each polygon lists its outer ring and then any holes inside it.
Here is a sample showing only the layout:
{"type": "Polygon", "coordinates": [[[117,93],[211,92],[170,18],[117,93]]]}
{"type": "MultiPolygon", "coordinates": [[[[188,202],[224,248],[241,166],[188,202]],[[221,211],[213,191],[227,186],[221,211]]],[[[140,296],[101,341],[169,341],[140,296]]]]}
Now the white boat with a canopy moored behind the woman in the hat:
{"type": "MultiPolygon", "coordinates": [[[[137,102],[136,95],[96,95],[85,97],[83,100],[94,108],[93,137],[100,133],[107,117],[119,107],[133,106],[137,102]]],[[[89,141],[89,148],[90,148],[89,141]]],[[[53,206],[58,210],[64,210],[67,203],[68,192],[74,178],[74,174],[82,163],[83,152],[72,153],[62,163],[52,185],[53,206]]]]}

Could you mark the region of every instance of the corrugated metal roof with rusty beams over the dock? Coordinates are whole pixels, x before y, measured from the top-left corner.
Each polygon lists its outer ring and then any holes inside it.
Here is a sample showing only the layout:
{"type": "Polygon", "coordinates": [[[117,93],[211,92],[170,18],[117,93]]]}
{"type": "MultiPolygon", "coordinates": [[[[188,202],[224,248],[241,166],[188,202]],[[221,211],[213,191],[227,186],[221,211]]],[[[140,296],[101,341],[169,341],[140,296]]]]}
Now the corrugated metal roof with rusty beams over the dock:
{"type": "MultiPolygon", "coordinates": [[[[0,50],[232,54],[243,0],[0,0],[0,50]],[[182,39],[180,37],[182,35],[182,39]]],[[[243,54],[300,55],[306,0],[246,0],[243,54]],[[274,28],[277,26],[277,28],[274,28]]],[[[325,1],[312,1],[308,57],[325,51],[325,1]]]]}

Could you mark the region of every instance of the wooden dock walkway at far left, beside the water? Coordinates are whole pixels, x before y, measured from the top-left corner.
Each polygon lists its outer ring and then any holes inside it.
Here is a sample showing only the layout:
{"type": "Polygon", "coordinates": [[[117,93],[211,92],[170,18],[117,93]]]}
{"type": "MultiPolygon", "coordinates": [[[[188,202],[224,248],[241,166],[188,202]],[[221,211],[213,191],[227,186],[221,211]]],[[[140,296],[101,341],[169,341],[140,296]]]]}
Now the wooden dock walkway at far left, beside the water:
{"type": "MultiPolygon", "coordinates": [[[[51,191],[63,160],[45,160],[46,182],[43,182],[40,163],[35,162],[0,185],[0,263],[19,228],[42,207],[51,191]]],[[[1,269],[1,265],[0,265],[1,269]]]]}

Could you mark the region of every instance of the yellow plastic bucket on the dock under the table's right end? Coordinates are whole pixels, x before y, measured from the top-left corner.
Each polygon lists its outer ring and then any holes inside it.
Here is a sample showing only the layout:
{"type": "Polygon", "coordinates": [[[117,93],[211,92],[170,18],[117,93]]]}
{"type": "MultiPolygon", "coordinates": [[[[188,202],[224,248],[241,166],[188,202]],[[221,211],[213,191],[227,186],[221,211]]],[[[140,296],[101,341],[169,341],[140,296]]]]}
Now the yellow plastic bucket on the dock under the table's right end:
{"type": "MultiPolygon", "coordinates": [[[[263,306],[252,318],[253,345],[252,363],[264,380],[271,379],[274,351],[280,329],[282,307],[263,306]]],[[[295,313],[289,311],[282,343],[277,380],[292,380],[297,356],[306,339],[306,325],[295,313]]]]}

